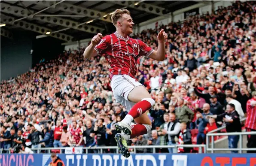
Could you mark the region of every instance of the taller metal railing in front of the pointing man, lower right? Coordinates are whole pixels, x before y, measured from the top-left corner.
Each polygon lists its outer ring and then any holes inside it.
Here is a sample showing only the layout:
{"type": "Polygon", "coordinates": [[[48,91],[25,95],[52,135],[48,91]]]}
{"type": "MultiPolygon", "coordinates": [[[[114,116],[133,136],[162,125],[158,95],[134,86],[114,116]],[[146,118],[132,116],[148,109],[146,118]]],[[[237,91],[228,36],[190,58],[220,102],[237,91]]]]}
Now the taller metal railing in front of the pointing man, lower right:
{"type": "Polygon", "coordinates": [[[256,148],[243,148],[243,136],[244,135],[256,135],[256,131],[253,132],[234,132],[234,133],[207,133],[206,134],[206,151],[238,151],[242,153],[242,151],[256,151],[256,148]],[[214,148],[214,136],[239,136],[239,147],[238,148],[214,148]],[[209,138],[211,137],[211,142],[209,142],[209,138]],[[209,145],[211,147],[209,147],[209,145]]]}

